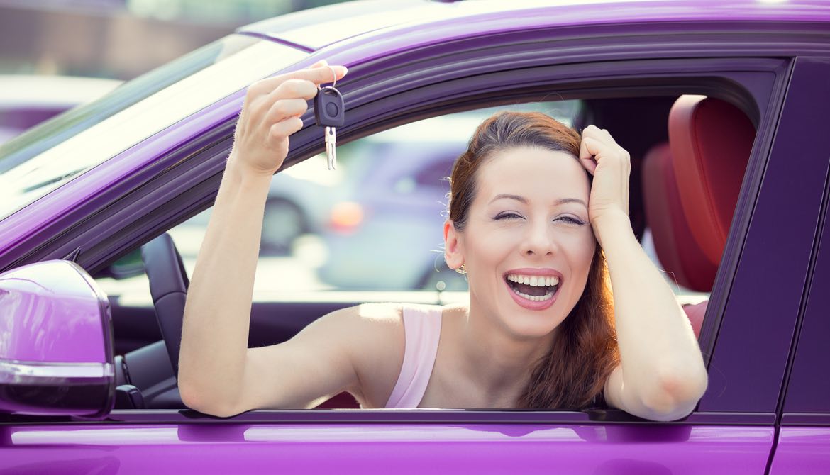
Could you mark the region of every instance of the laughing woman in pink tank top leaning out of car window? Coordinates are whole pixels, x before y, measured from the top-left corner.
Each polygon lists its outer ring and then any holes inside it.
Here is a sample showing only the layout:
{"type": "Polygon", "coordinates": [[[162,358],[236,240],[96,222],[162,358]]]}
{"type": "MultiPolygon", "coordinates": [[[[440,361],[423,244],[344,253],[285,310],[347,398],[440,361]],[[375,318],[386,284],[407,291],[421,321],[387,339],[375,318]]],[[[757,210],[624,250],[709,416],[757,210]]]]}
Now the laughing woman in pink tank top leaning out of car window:
{"type": "Polygon", "coordinates": [[[333,73],[346,70],[321,61],[247,92],[188,292],[186,405],[229,416],[347,390],[364,408],[579,410],[604,398],[655,420],[694,409],[706,368],[632,233],[628,154],[605,130],[580,137],[544,114],[486,120],[453,168],[445,258],[466,272],[469,305],[365,304],[248,349],[271,176],[333,73]]]}

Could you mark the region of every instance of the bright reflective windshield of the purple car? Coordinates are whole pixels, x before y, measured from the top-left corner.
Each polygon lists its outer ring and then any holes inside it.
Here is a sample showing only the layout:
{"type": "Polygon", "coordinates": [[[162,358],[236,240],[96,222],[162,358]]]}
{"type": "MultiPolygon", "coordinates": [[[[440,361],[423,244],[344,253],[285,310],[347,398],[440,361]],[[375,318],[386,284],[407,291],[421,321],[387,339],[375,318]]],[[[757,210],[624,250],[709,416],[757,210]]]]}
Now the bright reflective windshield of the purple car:
{"type": "Polygon", "coordinates": [[[307,53],[231,35],[0,146],[0,219],[307,53]]]}

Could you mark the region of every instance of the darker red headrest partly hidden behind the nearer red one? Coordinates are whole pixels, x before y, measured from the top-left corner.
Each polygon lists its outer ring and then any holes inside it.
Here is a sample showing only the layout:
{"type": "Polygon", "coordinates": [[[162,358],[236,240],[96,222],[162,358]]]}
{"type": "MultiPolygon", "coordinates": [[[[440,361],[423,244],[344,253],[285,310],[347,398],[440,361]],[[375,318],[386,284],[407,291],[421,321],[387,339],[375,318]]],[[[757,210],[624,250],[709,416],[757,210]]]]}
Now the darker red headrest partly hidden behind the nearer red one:
{"type": "Polygon", "coordinates": [[[663,270],[683,287],[710,292],[718,266],[703,253],[686,221],[668,143],[656,145],[643,158],[642,192],[663,270]]]}

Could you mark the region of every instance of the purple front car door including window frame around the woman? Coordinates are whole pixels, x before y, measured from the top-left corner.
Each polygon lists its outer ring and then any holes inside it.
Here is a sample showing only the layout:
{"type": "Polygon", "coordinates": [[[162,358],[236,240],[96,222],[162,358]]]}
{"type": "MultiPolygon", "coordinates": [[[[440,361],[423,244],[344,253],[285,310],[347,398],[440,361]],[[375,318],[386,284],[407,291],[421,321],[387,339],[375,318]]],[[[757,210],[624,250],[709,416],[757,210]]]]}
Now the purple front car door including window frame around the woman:
{"type": "MultiPolygon", "coordinates": [[[[643,41],[615,36],[620,32],[605,32],[602,41],[617,46],[643,41]]],[[[339,131],[344,141],[393,123],[481,104],[539,100],[551,91],[564,99],[637,97],[644,90],[696,92],[722,95],[754,110],[758,133],[701,332],[709,390],[688,418],[656,423],[620,410],[257,410],[216,419],[193,411],[115,410],[105,422],[4,424],[2,463],[32,472],[63,463],[112,471],[123,466],[208,472],[763,473],[774,445],[776,405],[808,268],[809,259],[799,249],[813,242],[818,216],[818,206],[800,207],[799,216],[812,219],[813,230],[800,221],[784,230],[775,204],[814,203],[804,200],[821,187],[807,182],[792,194],[782,192],[797,173],[792,154],[785,153],[796,147],[793,134],[782,133],[796,111],[781,109],[793,61],[742,58],[729,46],[708,43],[695,51],[697,59],[678,60],[678,51],[689,55],[689,42],[672,46],[683,35],[664,33],[655,32],[646,44],[628,44],[627,53],[603,43],[607,52],[592,61],[574,61],[566,52],[602,42],[596,28],[588,40],[548,38],[544,47],[535,43],[544,40],[541,34],[504,44],[492,40],[477,50],[461,42],[453,46],[457,50],[430,61],[415,61],[413,54],[408,60],[395,56],[363,63],[350,56],[356,54],[351,50],[333,51],[329,59],[356,64],[350,68],[354,79],[339,86],[352,121],[339,131]],[[523,56],[521,65],[504,63],[505,57],[530,51],[531,43],[535,55],[523,56]],[[660,52],[643,56],[648,46],[660,52]],[[666,47],[674,50],[666,53],[666,47]],[[403,78],[390,72],[392,65],[410,74],[403,78]],[[771,260],[784,262],[775,268],[779,287],[776,293],[759,292],[768,285],[771,260]],[[35,449],[38,457],[32,460],[35,449]]],[[[793,82],[799,77],[794,75],[793,82]]],[[[316,128],[305,128],[295,138],[289,162],[320,151],[316,128]]],[[[810,178],[823,183],[824,177],[810,178]]],[[[188,194],[179,190],[175,196],[188,194]]],[[[194,202],[210,198],[203,192],[179,206],[149,209],[156,214],[142,232],[150,235],[159,223],[180,221],[198,207],[194,202]]],[[[106,262],[104,254],[95,254],[94,265],[106,262]]],[[[321,303],[282,299],[258,307],[282,314],[290,309],[291,315],[308,318],[319,316],[321,303]]]]}

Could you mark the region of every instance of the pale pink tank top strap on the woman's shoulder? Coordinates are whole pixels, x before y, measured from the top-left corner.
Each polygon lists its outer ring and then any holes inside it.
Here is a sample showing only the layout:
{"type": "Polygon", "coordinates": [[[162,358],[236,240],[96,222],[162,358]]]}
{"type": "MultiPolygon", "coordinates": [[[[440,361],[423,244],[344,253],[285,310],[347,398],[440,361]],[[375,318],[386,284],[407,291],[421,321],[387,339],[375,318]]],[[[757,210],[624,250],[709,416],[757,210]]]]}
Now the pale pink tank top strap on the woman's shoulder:
{"type": "Polygon", "coordinates": [[[418,305],[403,308],[406,344],[398,382],[389,395],[387,408],[413,409],[421,403],[441,337],[441,307],[418,305]]]}

